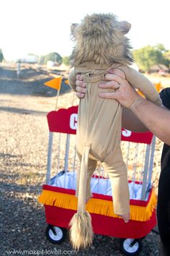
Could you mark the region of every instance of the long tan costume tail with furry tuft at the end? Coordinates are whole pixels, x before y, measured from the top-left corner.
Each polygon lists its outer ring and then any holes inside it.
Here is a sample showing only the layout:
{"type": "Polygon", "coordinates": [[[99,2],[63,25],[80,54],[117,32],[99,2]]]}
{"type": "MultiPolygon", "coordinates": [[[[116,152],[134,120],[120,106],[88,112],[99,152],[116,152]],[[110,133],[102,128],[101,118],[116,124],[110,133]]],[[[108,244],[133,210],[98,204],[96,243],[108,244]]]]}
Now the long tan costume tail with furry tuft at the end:
{"type": "Polygon", "coordinates": [[[69,225],[70,240],[74,249],[86,248],[92,244],[93,229],[91,225],[91,216],[86,211],[86,179],[87,168],[89,161],[89,151],[91,144],[84,145],[84,151],[81,159],[81,170],[79,178],[79,197],[78,197],[78,210],[74,214],[69,225]]]}

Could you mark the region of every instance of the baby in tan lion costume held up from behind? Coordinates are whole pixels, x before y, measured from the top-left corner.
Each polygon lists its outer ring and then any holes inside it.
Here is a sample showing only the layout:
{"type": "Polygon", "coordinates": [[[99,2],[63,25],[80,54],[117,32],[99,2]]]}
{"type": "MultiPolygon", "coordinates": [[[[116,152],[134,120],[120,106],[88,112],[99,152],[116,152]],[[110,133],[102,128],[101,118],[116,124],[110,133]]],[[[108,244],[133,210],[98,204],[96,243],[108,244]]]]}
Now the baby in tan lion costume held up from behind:
{"type": "Polygon", "coordinates": [[[91,197],[90,181],[97,161],[102,162],[109,175],[114,212],[125,222],[130,218],[127,168],[120,149],[122,106],[115,100],[99,98],[99,83],[107,82],[104,75],[109,69],[121,69],[130,85],[161,106],[153,84],[129,67],[133,64],[133,56],[125,34],[130,27],[128,22],[119,22],[114,14],[87,15],[80,24],[71,25],[75,48],[70,58],[73,69],[69,84],[76,90],[76,74],[79,73],[86,82],[86,95],[79,103],[76,135],[76,150],[81,161],[76,189],[78,212],[70,223],[71,242],[76,249],[92,242],[91,217],[86,212],[86,202],[91,197]]]}

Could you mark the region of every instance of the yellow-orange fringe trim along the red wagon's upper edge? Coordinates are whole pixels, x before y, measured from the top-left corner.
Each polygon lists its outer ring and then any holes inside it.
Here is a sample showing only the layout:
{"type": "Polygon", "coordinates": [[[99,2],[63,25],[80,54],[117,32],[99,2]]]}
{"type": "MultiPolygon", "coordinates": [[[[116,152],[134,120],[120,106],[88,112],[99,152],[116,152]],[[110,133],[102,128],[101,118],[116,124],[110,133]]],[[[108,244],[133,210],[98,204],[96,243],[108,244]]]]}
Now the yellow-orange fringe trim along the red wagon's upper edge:
{"type": "MultiPolygon", "coordinates": [[[[43,189],[38,201],[44,205],[77,210],[77,197],[74,195],[43,189]]],[[[130,205],[130,219],[133,221],[148,221],[151,218],[153,210],[156,208],[156,202],[156,195],[152,192],[147,206],[130,205]]],[[[114,213],[112,201],[109,200],[91,198],[86,204],[86,210],[89,213],[120,218],[114,213]]]]}

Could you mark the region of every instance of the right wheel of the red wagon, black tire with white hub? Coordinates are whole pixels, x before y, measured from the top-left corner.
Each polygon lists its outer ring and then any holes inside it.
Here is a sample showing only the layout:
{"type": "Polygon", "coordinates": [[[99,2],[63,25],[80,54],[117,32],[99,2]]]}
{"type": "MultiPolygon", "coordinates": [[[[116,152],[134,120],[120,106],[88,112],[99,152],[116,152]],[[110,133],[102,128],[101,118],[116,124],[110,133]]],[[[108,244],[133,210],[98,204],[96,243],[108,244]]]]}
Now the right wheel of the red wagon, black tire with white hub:
{"type": "Polygon", "coordinates": [[[125,253],[125,255],[138,255],[138,253],[141,250],[142,247],[142,243],[141,241],[138,239],[135,244],[133,244],[133,247],[130,247],[130,244],[133,242],[134,239],[123,239],[121,242],[121,249],[122,252],[125,253]]]}

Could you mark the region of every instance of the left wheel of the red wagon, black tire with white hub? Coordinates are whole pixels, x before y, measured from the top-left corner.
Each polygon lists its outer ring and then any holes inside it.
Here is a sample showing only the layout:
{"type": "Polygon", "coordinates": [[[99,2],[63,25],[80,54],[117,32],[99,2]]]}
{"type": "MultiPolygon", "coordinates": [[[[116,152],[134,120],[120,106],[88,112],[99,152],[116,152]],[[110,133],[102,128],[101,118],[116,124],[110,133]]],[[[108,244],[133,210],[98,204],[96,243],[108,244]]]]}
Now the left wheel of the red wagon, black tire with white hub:
{"type": "Polygon", "coordinates": [[[53,244],[60,244],[66,237],[66,229],[59,228],[58,226],[48,225],[45,234],[50,242],[52,242],[53,244]],[[53,232],[53,229],[55,231],[55,234],[53,232]]]}

